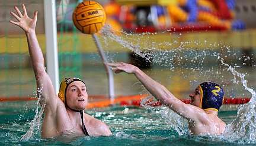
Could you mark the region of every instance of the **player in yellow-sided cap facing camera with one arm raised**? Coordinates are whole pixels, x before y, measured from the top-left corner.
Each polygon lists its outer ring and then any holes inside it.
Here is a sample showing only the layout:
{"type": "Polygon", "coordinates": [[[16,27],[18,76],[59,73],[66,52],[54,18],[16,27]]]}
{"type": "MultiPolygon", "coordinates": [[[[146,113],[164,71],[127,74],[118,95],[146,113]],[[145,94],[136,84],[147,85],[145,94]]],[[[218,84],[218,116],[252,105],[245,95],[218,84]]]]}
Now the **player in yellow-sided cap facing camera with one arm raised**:
{"type": "Polygon", "coordinates": [[[18,22],[10,22],[20,26],[27,37],[28,50],[36,77],[37,96],[44,109],[41,138],[65,137],[62,139],[66,139],[88,135],[111,135],[111,131],[104,122],[84,113],[88,103],[87,87],[84,81],[79,78],[65,78],[60,84],[59,94],[56,95],[44,67],[43,53],[37,41],[35,31],[37,12],[31,19],[27,15],[24,4],[22,8],[23,13],[15,6],[17,14],[11,12],[11,15],[18,22]]]}

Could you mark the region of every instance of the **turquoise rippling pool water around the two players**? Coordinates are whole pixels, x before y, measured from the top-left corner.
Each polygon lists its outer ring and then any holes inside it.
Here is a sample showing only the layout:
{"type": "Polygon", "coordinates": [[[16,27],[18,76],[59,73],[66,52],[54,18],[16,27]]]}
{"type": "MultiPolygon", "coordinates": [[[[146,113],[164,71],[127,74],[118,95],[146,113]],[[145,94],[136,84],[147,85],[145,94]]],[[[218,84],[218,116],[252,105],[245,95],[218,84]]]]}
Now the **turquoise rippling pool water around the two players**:
{"type": "MultiPolygon", "coordinates": [[[[162,108],[122,107],[112,105],[91,108],[89,115],[105,122],[113,135],[110,137],[40,138],[40,127],[34,127],[33,137],[21,140],[30,129],[36,115],[36,101],[0,102],[0,145],[241,145],[225,135],[191,136],[186,131],[178,134],[163,118],[162,108]]],[[[226,123],[236,117],[236,110],[222,110],[220,118],[226,123]]],[[[182,121],[181,121],[182,122],[182,121]]],[[[185,123],[184,123],[185,124],[185,123]]],[[[242,145],[250,144],[245,142],[242,145]]]]}

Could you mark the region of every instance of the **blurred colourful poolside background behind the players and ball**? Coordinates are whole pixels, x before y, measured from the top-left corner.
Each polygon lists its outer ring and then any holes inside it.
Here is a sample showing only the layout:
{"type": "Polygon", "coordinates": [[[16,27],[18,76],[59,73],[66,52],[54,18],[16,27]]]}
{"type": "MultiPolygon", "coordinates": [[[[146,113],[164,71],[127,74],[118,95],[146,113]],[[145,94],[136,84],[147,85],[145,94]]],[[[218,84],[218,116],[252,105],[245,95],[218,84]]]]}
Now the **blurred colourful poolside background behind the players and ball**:
{"type": "MultiPolygon", "coordinates": [[[[50,1],[49,1],[50,2],[50,1]]],[[[60,81],[79,77],[90,95],[107,95],[108,80],[91,35],[75,28],[72,13],[82,1],[56,0],[60,81]]],[[[212,79],[227,97],[250,97],[217,59],[241,67],[255,88],[256,1],[254,0],[98,0],[107,22],[98,36],[108,61],[144,69],[180,98],[188,98],[201,81],[212,79]],[[196,58],[196,59],[195,59],[196,58]],[[194,66],[197,64],[198,66],[194,66]],[[221,68],[221,69],[220,69],[221,68]],[[193,72],[193,74],[191,74],[193,72]],[[200,79],[198,79],[200,78],[200,79]]],[[[46,51],[43,0],[0,0],[0,97],[36,96],[36,82],[24,32],[9,20],[14,6],[25,4],[28,16],[39,11],[37,37],[46,51]]],[[[116,95],[143,94],[132,75],[114,76],[116,95]]]]}

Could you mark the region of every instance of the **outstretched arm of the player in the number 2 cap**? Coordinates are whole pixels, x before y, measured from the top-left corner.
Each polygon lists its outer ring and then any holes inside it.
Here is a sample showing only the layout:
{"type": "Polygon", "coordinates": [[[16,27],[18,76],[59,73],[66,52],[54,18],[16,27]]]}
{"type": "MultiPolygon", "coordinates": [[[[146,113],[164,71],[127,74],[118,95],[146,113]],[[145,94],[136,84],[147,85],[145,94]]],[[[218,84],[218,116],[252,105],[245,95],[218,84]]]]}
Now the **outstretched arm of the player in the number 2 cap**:
{"type": "Polygon", "coordinates": [[[142,82],[144,87],[148,89],[155,98],[159,99],[162,104],[167,105],[182,117],[194,120],[194,114],[198,113],[198,108],[193,105],[184,104],[180,99],[176,98],[171,92],[169,92],[167,88],[153,80],[139,68],[123,62],[108,63],[108,65],[110,65],[111,69],[116,73],[126,72],[128,74],[134,74],[136,78],[142,82]]]}

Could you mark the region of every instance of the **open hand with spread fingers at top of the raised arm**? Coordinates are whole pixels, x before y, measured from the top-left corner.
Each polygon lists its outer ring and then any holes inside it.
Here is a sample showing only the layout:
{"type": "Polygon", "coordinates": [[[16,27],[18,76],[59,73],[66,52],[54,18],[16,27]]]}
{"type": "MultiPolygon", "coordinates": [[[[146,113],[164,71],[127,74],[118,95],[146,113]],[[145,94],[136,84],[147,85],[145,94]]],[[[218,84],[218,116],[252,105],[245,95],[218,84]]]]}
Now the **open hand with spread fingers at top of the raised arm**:
{"type": "Polygon", "coordinates": [[[27,15],[27,10],[25,9],[25,5],[22,4],[23,7],[23,15],[21,14],[20,10],[18,9],[17,6],[14,7],[14,9],[16,10],[17,14],[16,15],[14,12],[10,12],[10,14],[12,16],[14,16],[18,22],[15,21],[9,21],[12,24],[18,25],[20,26],[20,28],[22,28],[25,32],[30,32],[30,31],[34,31],[36,28],[36,22],[37,22],[37,11],[34,12],[34,18],[31,19],[28,17],[27,15]]]}

